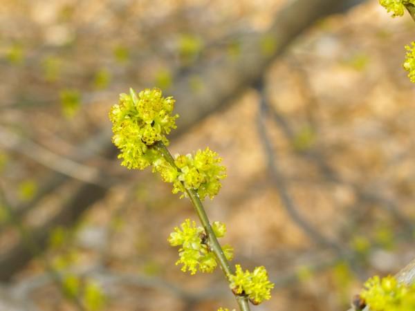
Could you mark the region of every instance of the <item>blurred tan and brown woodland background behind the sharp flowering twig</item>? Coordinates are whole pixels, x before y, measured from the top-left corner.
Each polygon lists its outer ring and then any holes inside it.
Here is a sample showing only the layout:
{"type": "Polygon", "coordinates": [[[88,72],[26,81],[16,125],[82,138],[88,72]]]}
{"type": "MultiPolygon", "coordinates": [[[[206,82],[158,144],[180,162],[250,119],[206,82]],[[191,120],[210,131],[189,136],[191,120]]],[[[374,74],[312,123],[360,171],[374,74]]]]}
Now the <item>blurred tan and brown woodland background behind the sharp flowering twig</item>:
{"type": "Polygon", "coordinates": [[[252,310],[346,310],[415,257],[412,40],[376,0],[1,0],[0,310],[237,308],[174,265],[190,202],[116,159],[130,86],[176,98],[172,153],[223,158],[208,214],[275,282],[252,310]]]}

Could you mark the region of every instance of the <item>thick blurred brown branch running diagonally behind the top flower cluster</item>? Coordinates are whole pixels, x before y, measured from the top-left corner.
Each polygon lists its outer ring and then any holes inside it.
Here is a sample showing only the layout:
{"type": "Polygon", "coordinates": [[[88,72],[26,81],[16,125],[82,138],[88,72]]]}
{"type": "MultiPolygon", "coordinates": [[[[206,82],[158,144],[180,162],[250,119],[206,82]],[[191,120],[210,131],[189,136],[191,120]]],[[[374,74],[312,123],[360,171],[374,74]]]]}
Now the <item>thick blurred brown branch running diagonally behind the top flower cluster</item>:
{"type": "MultiPolygon", "coordinates": [[[[358,1],[360,2],[360,1],[358,1]]],[[[188,131],[204,117],[223,109],[226,103],[257,82],[270,63],[288,48],[288,45],[318,19],[339,12],[342,5],[350,1],[338,0],[295,0],[277,12],[270,29],[263,33],[250,34],[241,42],[241,54],[236,59],[228,56],[209,62],[200,61],[167,90],[177,100],[176,112],[181,115],[175,135],[188,131]],[[266,49],[261,48],[266,43],[266,49]],[[194,79],[201,88],[194,89],[194,79]]],[[[111,140],[102,144],[107,156],[114,156],[111,140]]],[[[57,225],[71,225],[94,202],[104,198],[107,189],[91,183],[77,181],[77,190],[68,202],[63,202],[57,215],[44,225],[33,229],[33,238],[44,248],[48,234],[57,225]]],[[[24,243],[19,243],[0,254],[0,281],[9,280],[30,261],[32,255],[24,243]]]]}

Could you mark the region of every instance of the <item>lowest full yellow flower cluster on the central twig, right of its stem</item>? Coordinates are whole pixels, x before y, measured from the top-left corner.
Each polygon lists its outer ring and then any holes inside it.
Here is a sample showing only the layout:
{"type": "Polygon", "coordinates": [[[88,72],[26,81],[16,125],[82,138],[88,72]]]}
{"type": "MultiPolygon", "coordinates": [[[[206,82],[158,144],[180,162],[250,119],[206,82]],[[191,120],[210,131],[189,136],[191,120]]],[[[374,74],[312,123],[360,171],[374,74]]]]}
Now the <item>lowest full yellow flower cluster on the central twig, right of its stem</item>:
{"type": "Polygon", "coordinates": [[[256,267],[254,272],[243,272],[241,265],[235,265],[235,268],[235,274],[230,276],[230,288],[236,294],[246,294],[256,305],[271,298],[274,284],[268,280],[265,267],[256,267]]]}

